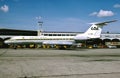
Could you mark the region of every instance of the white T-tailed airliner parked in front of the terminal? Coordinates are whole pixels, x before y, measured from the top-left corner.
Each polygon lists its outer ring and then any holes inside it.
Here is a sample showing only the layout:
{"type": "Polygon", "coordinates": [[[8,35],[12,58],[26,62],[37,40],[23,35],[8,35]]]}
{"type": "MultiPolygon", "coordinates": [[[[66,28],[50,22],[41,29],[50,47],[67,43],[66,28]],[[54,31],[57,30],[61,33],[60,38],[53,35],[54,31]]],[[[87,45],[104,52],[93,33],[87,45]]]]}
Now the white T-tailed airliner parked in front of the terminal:
{"type": "Polygon", "coordinates": [[[76,36],[15,36],[5,41],[6,44],[17,46],[18,44],[43,44],[71,47],[77,44],[77,41],[100,38],[103,26],[116,20],[91,23],[91,27],[83,34],[76,36]]]}

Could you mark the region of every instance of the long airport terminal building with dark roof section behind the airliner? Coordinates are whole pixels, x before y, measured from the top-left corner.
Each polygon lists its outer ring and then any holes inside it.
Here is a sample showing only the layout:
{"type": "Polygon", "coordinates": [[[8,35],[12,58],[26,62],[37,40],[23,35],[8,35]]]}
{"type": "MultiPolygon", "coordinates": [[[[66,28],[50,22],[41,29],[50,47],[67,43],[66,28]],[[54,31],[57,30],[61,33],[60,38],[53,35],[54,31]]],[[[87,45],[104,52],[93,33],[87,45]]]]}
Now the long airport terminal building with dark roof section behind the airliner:
{"type": "MultiPolygon", "coordinates": [[[[44,36],[75,36],[81,32],[46,32],[43,31],[44,36]]],[[[14,36],[37,36],[37,31],[32,30],[14,30],[14,29],[0,29],[0,48],[9,47],[4,43],[5,40],[14,36]]],[[[120,33],[102,33],[100,39],[87,40],[84,47],[99,47],[104,48],[108,45],[120,47],[120,33]]]]}

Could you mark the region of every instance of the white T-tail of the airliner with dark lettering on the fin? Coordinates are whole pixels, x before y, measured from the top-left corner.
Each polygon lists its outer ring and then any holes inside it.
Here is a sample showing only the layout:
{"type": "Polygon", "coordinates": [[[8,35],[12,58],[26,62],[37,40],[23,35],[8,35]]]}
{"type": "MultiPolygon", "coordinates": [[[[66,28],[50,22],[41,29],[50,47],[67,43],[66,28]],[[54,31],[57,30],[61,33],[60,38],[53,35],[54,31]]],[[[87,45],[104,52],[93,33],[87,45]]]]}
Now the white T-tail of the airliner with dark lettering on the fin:
{"type": "Polygon", "coordinates": [[[107,25],[108,23],[115,22],[113,21],[106,21],[106,22],[99,22],[99,23],[91,23],[92,26],[84,33],[89,38],[99,38],[102,32],[103,26],[107,25]]]}

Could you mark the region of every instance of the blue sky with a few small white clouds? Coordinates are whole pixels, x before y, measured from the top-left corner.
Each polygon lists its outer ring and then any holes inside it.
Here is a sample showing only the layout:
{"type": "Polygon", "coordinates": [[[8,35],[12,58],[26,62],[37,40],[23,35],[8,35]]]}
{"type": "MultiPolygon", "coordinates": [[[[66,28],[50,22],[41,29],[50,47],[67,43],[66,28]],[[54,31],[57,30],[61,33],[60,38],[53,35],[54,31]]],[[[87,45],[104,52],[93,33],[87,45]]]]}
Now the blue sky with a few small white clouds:
{"type": "Polygon", "coordinates": [[[120,33],[120,0],[0,0],[0,28],[85,32],[91,22],[118,20],[103,32],[120,33]]]}

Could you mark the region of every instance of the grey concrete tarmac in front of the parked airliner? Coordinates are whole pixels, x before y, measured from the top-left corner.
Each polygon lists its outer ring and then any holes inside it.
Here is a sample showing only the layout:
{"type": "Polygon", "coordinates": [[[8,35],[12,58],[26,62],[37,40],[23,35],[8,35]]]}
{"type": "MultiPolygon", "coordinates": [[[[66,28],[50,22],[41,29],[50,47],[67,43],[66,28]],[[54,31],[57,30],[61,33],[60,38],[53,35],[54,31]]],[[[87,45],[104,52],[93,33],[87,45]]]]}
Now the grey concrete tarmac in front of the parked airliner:
{"type": "Polygon", "coordinates": [[[0,49],[0,78],[120,78],[120,49],[0,49]]]}

